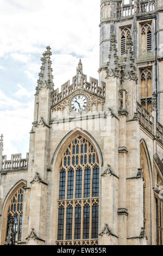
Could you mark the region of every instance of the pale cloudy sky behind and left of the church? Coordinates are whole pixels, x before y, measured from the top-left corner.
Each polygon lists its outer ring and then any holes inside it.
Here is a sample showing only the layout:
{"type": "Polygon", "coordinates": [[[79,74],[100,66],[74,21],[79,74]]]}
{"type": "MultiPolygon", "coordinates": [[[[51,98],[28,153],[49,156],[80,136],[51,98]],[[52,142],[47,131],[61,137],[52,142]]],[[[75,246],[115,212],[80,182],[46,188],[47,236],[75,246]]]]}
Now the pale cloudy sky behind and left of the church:
{"type": "Polygon", "coordinates": [[[100,0],[0,0],[0,133],[4,151],[29,151],[42,53],[52,48],[55,88],[84,73],[98,79],[100,0]]]}

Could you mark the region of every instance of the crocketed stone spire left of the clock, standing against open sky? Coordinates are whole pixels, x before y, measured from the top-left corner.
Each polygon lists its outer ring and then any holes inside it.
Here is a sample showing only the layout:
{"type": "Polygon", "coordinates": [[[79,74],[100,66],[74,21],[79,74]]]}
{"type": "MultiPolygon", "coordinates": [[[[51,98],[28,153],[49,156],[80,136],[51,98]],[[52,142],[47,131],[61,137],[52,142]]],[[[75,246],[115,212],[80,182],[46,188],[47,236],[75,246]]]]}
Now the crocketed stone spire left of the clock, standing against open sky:
{"type": "Polygon", "coordinates": [[[39,80],[37,80],[37,90],[39,90],[42,86],[46,86],[48,88],[54,87],[53,83],[53,75],[52,75],[52,62],[51,62],[51,47],[47,46],[46,47],[45,53],[43,53],[43,57],[41,58],[42,65],[41,65],[41,72],[39,73],[39,80]]]}

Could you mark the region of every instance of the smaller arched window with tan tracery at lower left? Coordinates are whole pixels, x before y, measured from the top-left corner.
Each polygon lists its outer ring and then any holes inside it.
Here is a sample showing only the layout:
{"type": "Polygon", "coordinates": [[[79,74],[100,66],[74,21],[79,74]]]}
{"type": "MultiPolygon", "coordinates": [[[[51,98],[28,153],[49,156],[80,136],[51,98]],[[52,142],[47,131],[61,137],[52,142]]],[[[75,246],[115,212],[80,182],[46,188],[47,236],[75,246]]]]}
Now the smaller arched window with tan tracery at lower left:
{"type": "Polygon", "coordinates": [[[9,225],[13,220],[13,243],[16,244],[21,241],[22,235],[22,217],[23,217],[23,188],[19,188],[14,196],[11,198],[7,214],[7,231],[6,237],[9,235],[9,225]]]}

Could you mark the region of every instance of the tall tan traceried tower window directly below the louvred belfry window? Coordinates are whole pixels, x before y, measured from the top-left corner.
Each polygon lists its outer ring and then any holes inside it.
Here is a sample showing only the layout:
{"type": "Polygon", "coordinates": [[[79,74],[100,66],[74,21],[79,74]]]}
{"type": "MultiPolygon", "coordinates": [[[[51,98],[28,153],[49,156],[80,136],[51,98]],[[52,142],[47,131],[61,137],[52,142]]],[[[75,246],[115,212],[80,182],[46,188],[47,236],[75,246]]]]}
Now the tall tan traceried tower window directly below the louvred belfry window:
{"type": "Polygon", "coordinates": [[[152,69],[141,70],[141,105],[152,114],[152,69]]]}

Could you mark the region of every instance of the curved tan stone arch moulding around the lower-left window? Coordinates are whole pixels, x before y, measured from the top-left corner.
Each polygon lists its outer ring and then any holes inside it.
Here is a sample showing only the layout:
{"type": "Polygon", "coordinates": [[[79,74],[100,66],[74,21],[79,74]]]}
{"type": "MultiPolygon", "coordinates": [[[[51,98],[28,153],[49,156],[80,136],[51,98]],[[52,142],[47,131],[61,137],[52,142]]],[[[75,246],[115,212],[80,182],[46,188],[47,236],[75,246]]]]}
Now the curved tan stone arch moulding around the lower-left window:
{"type": "MultiPolygon", "coordinates": [[[[14,198],[14,195],[17,191],[19,191],[21,188],[27,185],[26,180],[19,180],[16,182],[14,186],[10,189],[7,196],[4,199],[3,205],[2,205],[2,235],[1,235],[1,245],[4,245],[5,237],[7,233],[7,224],[8,224],[8,214],[9,214],[9,206],[11,203],[11,200],[14,198]]],[[[22,216],[21,216],[22,221],[22,216]]]]}

